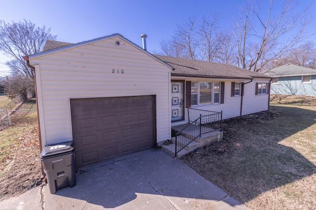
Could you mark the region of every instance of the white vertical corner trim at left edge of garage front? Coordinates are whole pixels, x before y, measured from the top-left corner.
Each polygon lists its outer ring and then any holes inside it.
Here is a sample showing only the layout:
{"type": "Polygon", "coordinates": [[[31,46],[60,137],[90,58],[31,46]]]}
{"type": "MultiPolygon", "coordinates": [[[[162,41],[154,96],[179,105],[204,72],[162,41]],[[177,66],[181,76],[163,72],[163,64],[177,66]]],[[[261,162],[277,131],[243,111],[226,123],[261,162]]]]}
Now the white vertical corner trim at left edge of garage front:
{"type": "Polygon", "coordinates": [[[35,78],[36,78],[36,88],[37,88],[37,103],[39,107],[39,125],[40,125],[40,139],[41,146],[40,150],[42,150],[46,146],[46,138],[45,138],[45,119],[44,119],[44,110],[43,110],[43,99],[41,92],[41,84],[40,84],[40,65],[35,65],[35,78]]]}

